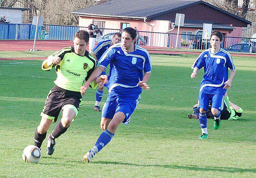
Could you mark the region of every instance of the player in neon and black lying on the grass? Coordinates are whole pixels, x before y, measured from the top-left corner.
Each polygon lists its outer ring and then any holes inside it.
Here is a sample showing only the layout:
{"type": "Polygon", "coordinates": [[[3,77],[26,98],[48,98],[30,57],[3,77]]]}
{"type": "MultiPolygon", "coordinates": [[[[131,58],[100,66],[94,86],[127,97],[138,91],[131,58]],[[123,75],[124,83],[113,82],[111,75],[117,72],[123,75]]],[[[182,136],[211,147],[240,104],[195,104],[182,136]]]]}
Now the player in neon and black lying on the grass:
{"type": "MultiPolygon", "coordinates": [[[[226,92],[224,95],[224,108],[220,113],[220,120],[237,120],[242,116],[243,109],[239,106],[235,105],[231,101],[229,101],[228,93],[226,92]]],[[[211,111],[211,103],[209,103],[209,107],[206,111],[206,117],[209,119],[214,119],[211,111]]],[[[199,119],[199,108],[198,104],[195,104],[193,107],[193,114],[188,115],[189,119],[199,119]]]]}

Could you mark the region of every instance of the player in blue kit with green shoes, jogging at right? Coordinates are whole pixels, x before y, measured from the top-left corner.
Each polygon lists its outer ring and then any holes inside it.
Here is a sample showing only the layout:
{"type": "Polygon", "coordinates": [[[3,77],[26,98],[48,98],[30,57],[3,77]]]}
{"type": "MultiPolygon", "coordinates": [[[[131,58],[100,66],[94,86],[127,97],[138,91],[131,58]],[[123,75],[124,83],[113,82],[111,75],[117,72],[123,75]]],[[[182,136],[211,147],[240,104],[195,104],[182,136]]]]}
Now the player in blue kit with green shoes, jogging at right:
{"type": "Polygon", "coordinates": [[[209,101],[212,103],[212,114],[214,115],[213,128],[220,127],[220,112],[224,107],[224,94],[231,87],[236,68],[232,57],[220,48],[222,34],[213,31],[211,34],[211,48],[202,52],[191,67],[193,70],[191,78],[196,78],[198,70],[204,67],[204,77],[201,81],[198,97],[199,122],[202,130],[200,138],[208,138],[206,111],[209,101]],[[228,78],[228,68],[230,76],[228,78]]]}

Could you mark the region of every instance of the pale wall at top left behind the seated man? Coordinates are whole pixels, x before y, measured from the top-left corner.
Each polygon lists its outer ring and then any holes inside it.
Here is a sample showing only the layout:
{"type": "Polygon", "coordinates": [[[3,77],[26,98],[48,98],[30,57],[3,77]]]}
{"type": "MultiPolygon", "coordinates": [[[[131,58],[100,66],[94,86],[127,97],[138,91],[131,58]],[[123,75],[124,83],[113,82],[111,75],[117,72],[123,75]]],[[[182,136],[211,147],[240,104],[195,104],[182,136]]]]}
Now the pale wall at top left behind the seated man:
{"type": "Polygon", "coordinates": [[[11,23],[21,23],[22,22],[22,11],[13,9],[0,9],[0,16],[5,15],[7,21],[11,23]]]}

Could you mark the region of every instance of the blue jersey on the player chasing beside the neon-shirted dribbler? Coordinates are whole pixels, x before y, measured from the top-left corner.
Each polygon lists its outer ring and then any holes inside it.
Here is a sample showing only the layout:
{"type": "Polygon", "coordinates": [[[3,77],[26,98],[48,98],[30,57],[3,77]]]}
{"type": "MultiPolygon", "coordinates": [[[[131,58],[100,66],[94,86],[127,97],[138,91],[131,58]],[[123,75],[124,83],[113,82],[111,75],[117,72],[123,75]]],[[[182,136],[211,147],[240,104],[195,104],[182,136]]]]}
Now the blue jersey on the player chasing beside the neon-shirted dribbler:
{"type": "Polygon", "coordinates": [[[151,72],[151,60],[146,49],[135,45],[135,50],[127,53],[122,44],[117,43],[108,48],[99,66],[107,68],[109,63],[108,83],[104,85],[109,93],[134,96],[142,92],[139,81],[143,79],[143,71],[151,72]]]}

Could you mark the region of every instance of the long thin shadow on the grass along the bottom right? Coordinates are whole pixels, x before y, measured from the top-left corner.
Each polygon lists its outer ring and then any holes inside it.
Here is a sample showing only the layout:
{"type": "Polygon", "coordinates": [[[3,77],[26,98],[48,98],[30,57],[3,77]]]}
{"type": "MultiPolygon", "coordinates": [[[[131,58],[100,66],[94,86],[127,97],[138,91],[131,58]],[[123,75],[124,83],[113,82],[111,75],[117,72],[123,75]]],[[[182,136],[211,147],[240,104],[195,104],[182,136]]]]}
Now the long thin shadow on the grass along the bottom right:
{"type": "Polygon", "coordinates": [[[195,165],[191,166],[179,166],[179,165],[143,165],[143,164],[133,164],[133,163],[122,163],[122,162],[108,162],[108,161],[98,161],[92,162],[93,164],[114,164],[114,165],[127,165],[127,166],[141,166],[141,167],[162,167],[162,168],[172,168],[172,169],[187,169],[194,171],[219,171],[219,172],[229,172],[229,173],[244,173],[252,172],[256,173],[256,168],[253,169],[243,169],[236,167],[197,167],[195,165]]]}

